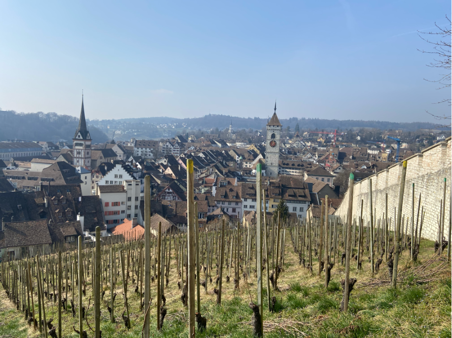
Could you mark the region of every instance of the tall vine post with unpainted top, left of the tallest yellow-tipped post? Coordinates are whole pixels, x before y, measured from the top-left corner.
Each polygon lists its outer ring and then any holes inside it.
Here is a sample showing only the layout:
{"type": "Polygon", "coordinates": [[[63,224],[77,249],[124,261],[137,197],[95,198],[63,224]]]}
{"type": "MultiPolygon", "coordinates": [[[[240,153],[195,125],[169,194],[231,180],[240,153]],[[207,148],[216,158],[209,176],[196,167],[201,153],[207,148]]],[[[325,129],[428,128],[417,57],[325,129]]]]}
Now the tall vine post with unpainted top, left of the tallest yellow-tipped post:
{"type": "MultiPolygon", "coordinates": [[[[141,277],[142,278],[142,277],[141,277]]],[[[151,284],[151,176],[144,177],[144,325],[143,338],[149,338],[149,306],[151,284]]],[[[158,292],[158,291],[157,291],[158,292]]],[[[159,316],[157,309],[157,317],[159,316]]],[[[157,318],[157,329],[159,318],[157,318]]]]}

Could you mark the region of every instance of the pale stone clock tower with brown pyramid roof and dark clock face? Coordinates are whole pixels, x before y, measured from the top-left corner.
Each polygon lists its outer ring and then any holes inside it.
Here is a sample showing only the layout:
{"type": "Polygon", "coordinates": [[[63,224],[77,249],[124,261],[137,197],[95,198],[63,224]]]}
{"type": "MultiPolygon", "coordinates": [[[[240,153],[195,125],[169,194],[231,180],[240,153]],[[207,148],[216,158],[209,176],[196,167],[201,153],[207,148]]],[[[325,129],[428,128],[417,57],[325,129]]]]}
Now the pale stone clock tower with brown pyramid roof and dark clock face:
{"type": "Polygon", "coordinates": [[[270,177],[278,177],[279,147],[281,144],[282,124],[275,112],[267,123],[267,140],[265,142],[265,173],[270,177]]]}

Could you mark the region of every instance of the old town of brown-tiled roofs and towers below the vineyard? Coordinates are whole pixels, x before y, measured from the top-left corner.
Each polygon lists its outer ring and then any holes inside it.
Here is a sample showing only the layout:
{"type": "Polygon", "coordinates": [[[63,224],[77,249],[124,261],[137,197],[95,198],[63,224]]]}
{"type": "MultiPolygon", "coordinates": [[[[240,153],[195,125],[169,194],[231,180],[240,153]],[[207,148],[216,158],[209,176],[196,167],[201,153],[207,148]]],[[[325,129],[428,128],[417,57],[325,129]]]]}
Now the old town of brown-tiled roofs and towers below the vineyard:
{"type": "Polygon", "coordinates": [[[97,226],[102,236],[142,236],[147,175],[153,231],[158,222],[166,230],[186,231],[189,159],[200,230],[222,218],[255,222],[258,164],[268,213],[283,203],[293,219],[319,217],[328,195],[333,214],[350,172],[362,180],[447,138],[397,130],[375,134],[377,141],[363,145],[359,133],[352,137],[338,130],[303,131],[298,123],[290,131],[280,123],[275,103],[262,130],[235,131],[231,123],[211,133],[94,144],[82,98],[72,142],[0,142],[0,254],[22,256],[56,242],[71,245],[80,235],[93,241],[97,226]]]}

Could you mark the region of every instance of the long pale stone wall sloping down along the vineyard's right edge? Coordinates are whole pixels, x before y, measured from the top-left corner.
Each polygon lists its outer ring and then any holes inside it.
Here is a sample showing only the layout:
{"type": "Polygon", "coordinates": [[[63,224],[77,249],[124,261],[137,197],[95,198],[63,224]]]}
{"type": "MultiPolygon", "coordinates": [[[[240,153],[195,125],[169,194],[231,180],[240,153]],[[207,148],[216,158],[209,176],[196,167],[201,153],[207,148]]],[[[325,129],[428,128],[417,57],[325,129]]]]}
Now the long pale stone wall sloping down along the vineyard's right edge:
{"type": "MultiPolygon", "coordinates": [[[[412,192],[414,183],[414,206],[415,206],[415,227],[417,219],[417,209],[419,203],[419,193],[421,193],[421,208],[424,206],[425,218],[422,230],[422,237],[436,240],[438,236],[438,222],[440,218],[441,200],[444,194],[444,178],[446,178],[446,213],[444,234],[447,239],[450,208],[451,208],[451,163],[452,149],[451,137],[444,142],[440,142],[420,154],[415,154],[407,159],[407,174],[405,181],[405,193],[403,197],[402,214],[405,216],[405,225],[409,222],[410,229],[412,218],[412,192]]],[[[363,200],[363,219],[369,220],[370,199],[369,186],[372,181],[372,201],[376,219],[383,219],[386,209],[388,217],[394,225],[395,212],[399,201],[400,179],[402,174],[402,163],[394,164],[388,169],[382,170],[362,181],[354,184],[353,191],[353,217],[359,218],[361,212],[361,199],[363,200]]],[[[343,221],[347,217],[349,189],[345,192],[344,199],[335,215],[343,221]]],[[[419,223],[420,223],[419,216],[419,223]]],[[[378,222],[378,221],[377,221],[378,222]]],[[[367,223],[365,223],[367,224],[367,223]]]]}

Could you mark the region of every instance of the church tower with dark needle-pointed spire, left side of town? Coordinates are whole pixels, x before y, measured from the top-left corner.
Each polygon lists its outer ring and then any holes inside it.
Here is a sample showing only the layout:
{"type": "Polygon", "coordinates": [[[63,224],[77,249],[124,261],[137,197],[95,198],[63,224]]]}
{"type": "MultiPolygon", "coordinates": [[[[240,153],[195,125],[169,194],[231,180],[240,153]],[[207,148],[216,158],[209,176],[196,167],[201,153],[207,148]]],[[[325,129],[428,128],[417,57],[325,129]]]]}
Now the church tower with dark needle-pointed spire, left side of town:
{"type": "Polygon", "coordinates": [[[83,95],[79,126],[77,127],[74,138],[72,139],[72,151],[74,166],[91,169],[91,136],[86,127],[85,108],[83,107],[83,95]]]}

